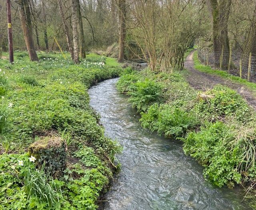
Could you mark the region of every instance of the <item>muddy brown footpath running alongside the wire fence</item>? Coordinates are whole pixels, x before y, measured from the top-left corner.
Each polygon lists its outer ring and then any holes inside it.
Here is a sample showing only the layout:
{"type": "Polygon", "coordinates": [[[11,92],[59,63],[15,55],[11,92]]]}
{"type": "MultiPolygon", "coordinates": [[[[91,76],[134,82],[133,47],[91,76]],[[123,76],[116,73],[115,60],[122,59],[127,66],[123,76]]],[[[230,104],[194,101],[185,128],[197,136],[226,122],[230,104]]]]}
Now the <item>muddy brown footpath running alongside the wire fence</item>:
{"type": "Polygon", "coordinates": [[[200,72],[194,68],[194,51],[191,52],[184,62],[184,67],[190,72],[187,77],[188,83],[196,90],[206,91],[212,89],[216,84],[222,84],[236,90],[245,100],[256,110],[256,95],[243,84],[232,82],[231,80],[219,76],[200,72]]]}

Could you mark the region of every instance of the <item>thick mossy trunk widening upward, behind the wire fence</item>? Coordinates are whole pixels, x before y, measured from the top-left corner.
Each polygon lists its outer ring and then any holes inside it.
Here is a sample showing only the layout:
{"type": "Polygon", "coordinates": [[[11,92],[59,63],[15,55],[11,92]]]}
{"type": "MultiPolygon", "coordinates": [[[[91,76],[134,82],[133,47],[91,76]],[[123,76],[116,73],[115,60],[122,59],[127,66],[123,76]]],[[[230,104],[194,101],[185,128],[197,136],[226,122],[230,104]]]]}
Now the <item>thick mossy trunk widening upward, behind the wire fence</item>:
{"type": "MultiPolygon", "coordinates": [[[[220,66],[220,54],[224,51],[224,66],[229,60],[228,17],[232,0],[207,0],[212,18],[212,41],[215,66],[220,66]]],[[[225,68],[225,67],[224,67],[225,68]]]]}

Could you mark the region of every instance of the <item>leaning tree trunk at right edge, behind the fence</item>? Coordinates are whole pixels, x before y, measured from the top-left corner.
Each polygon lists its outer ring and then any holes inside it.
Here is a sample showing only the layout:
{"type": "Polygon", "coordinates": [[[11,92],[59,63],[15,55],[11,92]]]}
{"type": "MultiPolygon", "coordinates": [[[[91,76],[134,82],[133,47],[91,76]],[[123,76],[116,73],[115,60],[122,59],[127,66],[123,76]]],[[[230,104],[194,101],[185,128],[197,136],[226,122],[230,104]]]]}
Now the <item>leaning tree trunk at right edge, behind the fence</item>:
{"type": "Polygon", "coordinates": [[[249,54],[252,53],[252,56],[256,56],[256,5],[254,9],[254,14],[250,26],[250,30],[248,32],[248,36],[246,38],[246,42],[244,45],[244,50],[242,54],[242,66],[243,69],[246,69],[246,73],[248,70],[248,60],[249,54]]]}

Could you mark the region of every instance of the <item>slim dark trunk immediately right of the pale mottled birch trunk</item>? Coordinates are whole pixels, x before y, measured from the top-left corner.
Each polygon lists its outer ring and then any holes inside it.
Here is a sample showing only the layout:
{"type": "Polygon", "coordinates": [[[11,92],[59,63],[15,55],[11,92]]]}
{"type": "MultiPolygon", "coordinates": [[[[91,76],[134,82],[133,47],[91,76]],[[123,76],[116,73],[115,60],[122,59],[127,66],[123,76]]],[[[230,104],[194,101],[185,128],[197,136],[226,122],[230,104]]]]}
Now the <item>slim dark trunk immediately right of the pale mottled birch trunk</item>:
{"type": "Polygon", "coordinates": [[[80,43],[80,56],[86,58],[85,41],[84,41],[84,27],[82,22],[81,6],[79,0],[76,0],[77,4],[77,17],[78,17],[78,31],[79,31],[79,43],[80,43]]]}

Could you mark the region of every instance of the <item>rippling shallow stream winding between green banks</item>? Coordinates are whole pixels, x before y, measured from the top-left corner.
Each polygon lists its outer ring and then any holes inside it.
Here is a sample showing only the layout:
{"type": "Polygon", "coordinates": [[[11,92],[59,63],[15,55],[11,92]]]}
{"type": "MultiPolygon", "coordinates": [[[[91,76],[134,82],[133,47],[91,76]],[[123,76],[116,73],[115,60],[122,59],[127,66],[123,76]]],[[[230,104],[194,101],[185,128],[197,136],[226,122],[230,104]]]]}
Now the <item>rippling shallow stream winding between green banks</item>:
{"type": "Polygon", "coordinates": [[[118,78],[88,90],[90,105],[100,113],[105,134],[123,146],[122,164],[105,195],[105,210],[249,210],[240,190],[217,188],[203,167],[186,156],[182,143],[140,127],[128,98],[115,88],[118,78]]]}

